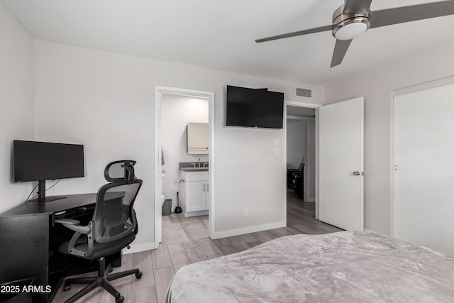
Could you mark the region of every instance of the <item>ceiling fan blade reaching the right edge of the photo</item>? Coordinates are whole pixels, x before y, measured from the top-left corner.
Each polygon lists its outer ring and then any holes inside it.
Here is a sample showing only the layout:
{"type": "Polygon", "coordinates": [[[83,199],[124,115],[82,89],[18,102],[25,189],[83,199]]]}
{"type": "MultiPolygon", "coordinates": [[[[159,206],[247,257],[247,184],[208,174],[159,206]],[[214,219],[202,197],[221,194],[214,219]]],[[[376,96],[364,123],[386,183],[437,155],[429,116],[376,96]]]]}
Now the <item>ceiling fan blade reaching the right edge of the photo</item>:
{"type": "Polygon", "coordinates": [[[428,18],[436,18],[454,14],[454,1],[438,1],[428,4],[397,7],[382,11],[370,12],[370,28],[390,26],[428,18]]]}

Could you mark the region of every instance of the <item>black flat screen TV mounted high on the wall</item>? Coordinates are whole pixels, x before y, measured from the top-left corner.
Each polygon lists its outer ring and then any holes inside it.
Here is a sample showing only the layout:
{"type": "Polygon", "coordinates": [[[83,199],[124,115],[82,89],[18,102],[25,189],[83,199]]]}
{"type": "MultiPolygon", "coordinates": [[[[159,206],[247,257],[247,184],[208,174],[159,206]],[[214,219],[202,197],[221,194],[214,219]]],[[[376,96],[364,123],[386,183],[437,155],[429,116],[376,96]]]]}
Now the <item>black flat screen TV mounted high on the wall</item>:
{"type": "Polygon", "coordinates": [[[282,128],[284,93],[227,86],[226,125],[282,128]]]}

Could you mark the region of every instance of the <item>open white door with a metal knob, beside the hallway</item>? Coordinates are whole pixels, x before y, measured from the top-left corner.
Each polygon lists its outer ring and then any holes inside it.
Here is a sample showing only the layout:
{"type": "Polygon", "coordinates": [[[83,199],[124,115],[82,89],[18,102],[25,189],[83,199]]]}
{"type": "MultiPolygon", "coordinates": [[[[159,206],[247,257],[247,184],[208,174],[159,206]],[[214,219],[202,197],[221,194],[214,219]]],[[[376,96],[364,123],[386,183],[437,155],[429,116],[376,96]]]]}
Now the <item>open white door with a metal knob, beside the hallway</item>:
{"type": "Polygon", "coordinates": [[[319,109],[319,219],[363,230],[364,99],[319,109]]]}

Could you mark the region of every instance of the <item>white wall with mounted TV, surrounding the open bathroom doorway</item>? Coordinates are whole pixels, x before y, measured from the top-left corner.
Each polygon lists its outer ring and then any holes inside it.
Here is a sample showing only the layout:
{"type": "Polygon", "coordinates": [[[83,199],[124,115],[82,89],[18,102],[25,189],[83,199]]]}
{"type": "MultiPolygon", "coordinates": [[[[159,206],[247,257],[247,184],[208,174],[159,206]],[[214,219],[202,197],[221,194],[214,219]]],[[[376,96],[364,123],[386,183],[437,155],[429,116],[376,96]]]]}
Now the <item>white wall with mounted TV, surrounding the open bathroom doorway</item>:
{"type": "Polygon", "coordinates": [[[95,192],[107,162],[137,160],[144,183],[136,202],[135,243],[152,243],[155,85],[196,89],[215,95],[216,232],[282,224],[285,162],[282,153],[275,155],[275,138],[282,144],[284,131],[225,127],[228,84],[268,87],[284,92],[286,100],[294,99],[295,86],[304,85],[313,89],[312,102],[324,99],[322,87],[37,40],[37,138],[83,143],[87,155],[87,177],[64,180],[54,193],[95,192]],[[243,206],[249,207],[248,217],[243,206]]]}

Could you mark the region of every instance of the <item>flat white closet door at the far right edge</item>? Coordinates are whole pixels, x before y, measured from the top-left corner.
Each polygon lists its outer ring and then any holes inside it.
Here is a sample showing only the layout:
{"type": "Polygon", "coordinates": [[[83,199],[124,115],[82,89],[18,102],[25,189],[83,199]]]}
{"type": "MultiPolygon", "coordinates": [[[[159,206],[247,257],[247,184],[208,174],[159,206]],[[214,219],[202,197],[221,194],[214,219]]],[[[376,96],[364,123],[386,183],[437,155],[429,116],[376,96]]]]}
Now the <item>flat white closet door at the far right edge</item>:
{"type": "Polygon", "coordinates": [[[454,256],[454,84],[394,97],[394,236],[454,256]]]}

